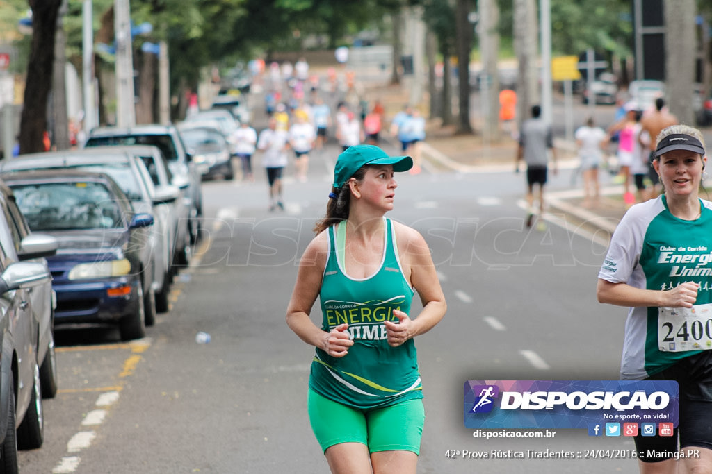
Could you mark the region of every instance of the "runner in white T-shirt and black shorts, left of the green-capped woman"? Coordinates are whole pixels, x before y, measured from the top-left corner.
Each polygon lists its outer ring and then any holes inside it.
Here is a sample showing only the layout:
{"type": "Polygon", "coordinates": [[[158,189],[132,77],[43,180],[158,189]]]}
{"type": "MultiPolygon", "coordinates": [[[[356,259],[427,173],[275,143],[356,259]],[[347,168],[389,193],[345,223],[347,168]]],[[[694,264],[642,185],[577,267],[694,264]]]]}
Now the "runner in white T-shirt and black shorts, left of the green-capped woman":
{"type": "Polygon", "coordinates": [[[261,131],[257,148],[263,151],[262,166],[267,173],[269,185],[269,210],[276,208],[284,210],[282,203],[282,173],[287,166],[287,150],[289,136],[286,131],[277,128],[277,120],[270,117],[268,128],[261,131]]]}

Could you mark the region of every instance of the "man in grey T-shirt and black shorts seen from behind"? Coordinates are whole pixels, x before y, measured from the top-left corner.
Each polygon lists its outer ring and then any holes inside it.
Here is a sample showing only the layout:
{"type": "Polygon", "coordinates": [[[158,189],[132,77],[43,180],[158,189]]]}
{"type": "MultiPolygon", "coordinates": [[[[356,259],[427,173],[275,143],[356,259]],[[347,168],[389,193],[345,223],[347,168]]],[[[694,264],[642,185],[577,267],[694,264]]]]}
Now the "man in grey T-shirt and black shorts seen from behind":
{"type": "Polygon", "coordinates": [[[522,123],[517,149],[515,171],[519,173],[520,161],[527,163],[527,227],[534,219],[534,188],[538,188],[539,215],[544,213],[544,185],[548,178],[549,151],[553,159],[553,173],[557,173],[556,149],[551,126],[541,118],[541,107],[531,109],[532,117],[522,123]]]}

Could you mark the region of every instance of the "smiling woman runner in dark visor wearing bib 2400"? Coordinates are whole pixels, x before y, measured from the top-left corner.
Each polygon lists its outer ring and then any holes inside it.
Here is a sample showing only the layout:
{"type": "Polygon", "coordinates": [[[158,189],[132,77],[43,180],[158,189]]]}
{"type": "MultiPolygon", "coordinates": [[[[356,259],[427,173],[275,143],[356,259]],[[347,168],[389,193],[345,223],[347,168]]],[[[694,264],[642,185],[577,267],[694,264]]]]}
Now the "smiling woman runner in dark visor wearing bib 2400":
{"type": "Polygon", "coordinates": [[[640,472],[709,473],[712,350],[705,331],[697,338],[695,329],[706,327],[712,305],[712,203],[699,197],[707,156],[702,134],[691,126],[666,127],[655,141],[653,167],[664,194],[623,216],[596,294],[600,303],[629,307],[621,379],[679,384],[673,436],[634,438],[640,472]],[[695,456],[677,459],[688,448],[695,456]]]}

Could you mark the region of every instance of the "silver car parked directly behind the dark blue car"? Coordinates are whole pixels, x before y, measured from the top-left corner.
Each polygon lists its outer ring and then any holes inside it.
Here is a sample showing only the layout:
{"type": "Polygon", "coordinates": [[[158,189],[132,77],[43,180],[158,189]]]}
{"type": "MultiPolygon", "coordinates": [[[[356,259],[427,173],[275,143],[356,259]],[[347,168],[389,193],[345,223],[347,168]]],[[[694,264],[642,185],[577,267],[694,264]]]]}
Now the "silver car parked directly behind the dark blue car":
{"type": "Polygon", "coordinates": [[[155,225],[149,230],[150,239],[147,242],[153,262],[145,268],[148,272],[147,281],[152,281],[152,284],[143,288],[146,296],[146,324],[152,325],[155,321],[156,301],[159,301],[159,308],[168,307],[171,282],[172,247],[167,241],[167,222],[156,217],[160,215],[156,208],[176,199],[177,195],[170,190],[155,189],[142,159],[117,146],[33,153],[0,162],[2,176],[17,171],[61,168],[108,174],[125,193],[136,212],[155,217],[155,225]]]}

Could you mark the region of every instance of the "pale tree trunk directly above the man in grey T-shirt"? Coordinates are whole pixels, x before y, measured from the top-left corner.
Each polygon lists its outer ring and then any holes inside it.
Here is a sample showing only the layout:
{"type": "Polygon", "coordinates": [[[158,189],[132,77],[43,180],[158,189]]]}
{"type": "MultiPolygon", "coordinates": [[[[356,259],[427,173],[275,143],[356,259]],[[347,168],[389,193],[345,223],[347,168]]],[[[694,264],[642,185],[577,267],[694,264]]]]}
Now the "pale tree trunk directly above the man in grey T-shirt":
{"type": "Polygon", "coordinates": [[[537,9],[534,0],[514,0],[514,51],[518,60],[517,130],[539,102],[537,87],[537,9]]]}

